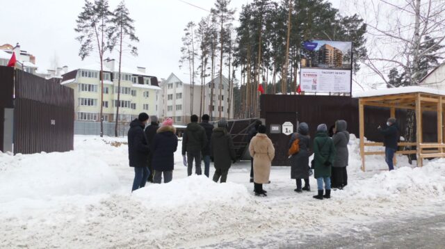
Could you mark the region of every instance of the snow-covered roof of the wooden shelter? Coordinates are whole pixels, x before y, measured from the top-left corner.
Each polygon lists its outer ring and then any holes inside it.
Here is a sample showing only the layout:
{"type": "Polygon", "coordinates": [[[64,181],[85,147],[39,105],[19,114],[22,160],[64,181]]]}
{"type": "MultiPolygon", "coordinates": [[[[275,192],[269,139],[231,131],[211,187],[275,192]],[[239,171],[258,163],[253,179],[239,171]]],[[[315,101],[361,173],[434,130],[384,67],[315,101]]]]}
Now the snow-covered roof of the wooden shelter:
{"type": "Polygon", "coordinates": [[[353,97],[375,97],[375,96],[385,96],[385,95],[397,95],[403,93],[428,93],[432,95],[444,95],[445,91],[437,90],[433,88],[425,88],[421,86],[403,86],[400,88],[386,88],[379,90],[368,90],[362,93],[353,93],[353,97]]]}

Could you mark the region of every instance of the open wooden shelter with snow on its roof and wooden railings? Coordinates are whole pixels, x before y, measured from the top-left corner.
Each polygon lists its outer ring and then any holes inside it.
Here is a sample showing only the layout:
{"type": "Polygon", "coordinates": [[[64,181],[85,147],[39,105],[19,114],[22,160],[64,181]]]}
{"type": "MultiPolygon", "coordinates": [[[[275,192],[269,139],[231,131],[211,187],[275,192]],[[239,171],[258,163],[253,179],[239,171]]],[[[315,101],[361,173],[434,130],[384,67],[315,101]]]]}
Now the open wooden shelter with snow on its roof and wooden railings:
{"type": "MultiPolygon", "coordinates": [[[[360,156],[362,156],[362,170],[365,170],[365,156],[385,154],[385,152],[365,151],[365,147],[383,146],[383,143],[364,142],[364,107],[380,106],[390,110],[391,118],[396,117],[396,109],[414,110],[416,113],[416,142],[398,143],[398,146],[416,146],[416,150],[402,150],[396,154],[416,154],[417,166],[422,166],[422,159],[445,157],[444,144],[444,104],[445,92],[432,88],[408,86],[402,88],[388,88],[371,90],[355,94],[359,98],[359,138],[360,156]],[[422,114],[426,111],[437,112],[437,142],[423,143],[422,114]]],[[[383,120],[382,120],[383,121],[383,120]]]]}

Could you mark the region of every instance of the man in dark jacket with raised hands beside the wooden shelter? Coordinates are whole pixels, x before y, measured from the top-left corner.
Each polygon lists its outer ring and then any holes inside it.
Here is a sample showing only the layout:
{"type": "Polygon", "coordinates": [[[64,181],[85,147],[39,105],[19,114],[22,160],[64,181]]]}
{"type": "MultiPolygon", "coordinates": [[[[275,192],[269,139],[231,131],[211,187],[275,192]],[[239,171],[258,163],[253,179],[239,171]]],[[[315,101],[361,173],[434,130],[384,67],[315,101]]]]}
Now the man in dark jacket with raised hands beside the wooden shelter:
{"type": "Polygon", "coordinates": [[[378,130],[383,135],[383,145],[385,145],[385,161],[388,164],[389,170],[394,170],[394,153],[397,151],[398,140],[398,126],[395,118],[388,118],[387,127],[383,129],[378,127],[378,130]]]}

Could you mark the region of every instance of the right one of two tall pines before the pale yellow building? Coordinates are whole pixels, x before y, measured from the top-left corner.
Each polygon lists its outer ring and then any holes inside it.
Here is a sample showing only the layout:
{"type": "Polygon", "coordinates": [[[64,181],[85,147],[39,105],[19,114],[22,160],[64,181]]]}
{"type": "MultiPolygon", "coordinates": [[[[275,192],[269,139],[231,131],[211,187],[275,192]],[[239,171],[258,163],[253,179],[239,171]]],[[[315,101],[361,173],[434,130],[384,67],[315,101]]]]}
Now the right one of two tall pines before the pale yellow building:
{"type": "MultiPolygon", "coordinates": [[[[120,108],[120,80],[122,77],[120,77],[121,67],[122,67],[122,45],[123,42],[126,42],[125,40],[129,40],[131,42],[139,42],[139,39],[135,35],[135,30],[133,26],[133,19],[129,16],[129,10],[127,9],[127,6],[125,6],[125,2],[121,1],[118,5],[118,7],[114,10],[113,18],[111,19],[111,23],[113,24],[113,27],[108,34],[110,36],[111,45],[109,47],[110,51],[113,50],[113,47],[115,45],[119,45],[119,69],[118,69],[118,106],[116,107],[116,118],[115,118],[115,128],[114,133],[115,136],[118,136],[118,123],[119,123],[119,108],[120,108]]],[[[138,48],[131,45],[130,43],[127,43],[128,49],[130,49],[130,53],[133,56],[138,55],[138,48]]]]}

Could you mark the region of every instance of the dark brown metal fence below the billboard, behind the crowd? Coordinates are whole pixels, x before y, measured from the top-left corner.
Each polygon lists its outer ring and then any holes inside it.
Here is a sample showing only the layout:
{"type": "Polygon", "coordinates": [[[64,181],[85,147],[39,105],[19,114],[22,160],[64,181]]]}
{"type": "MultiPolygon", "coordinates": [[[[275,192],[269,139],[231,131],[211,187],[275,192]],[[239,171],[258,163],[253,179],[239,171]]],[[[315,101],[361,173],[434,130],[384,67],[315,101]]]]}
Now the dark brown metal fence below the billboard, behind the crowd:
{"type": "MultiPolygon", "coordinates": [[[[342,96],[316,96],[316,95],[261,95],[260,117],[266,120],[268,132],[270,124],[283,124],[292,122],[293,131],[296,131],[296,123],[307,122],[312,138],[316,133],[318,124],[327,124],[327,128],[334,125],[336,120],[346,120],[350,134],[359,136],[358,99],[342,96]]],[[[382,136],[377,130],[380,124],[385,124],[390,111],[385,108],[365,108],[365,137],[368,140],[382,142],[382,136]]],[[[423,138],[425,141],[434,140],[435,113],[425,113],[423,122],[423,138]]],[[[401,125],[401,131],[405,130],[406,111],[397,110],[396,118],[401,125]]],[[[274,166],[289,165],[287,158],[288,143],[291,136],[284,134],[268,134],[275,146],[274,166]]]]}

